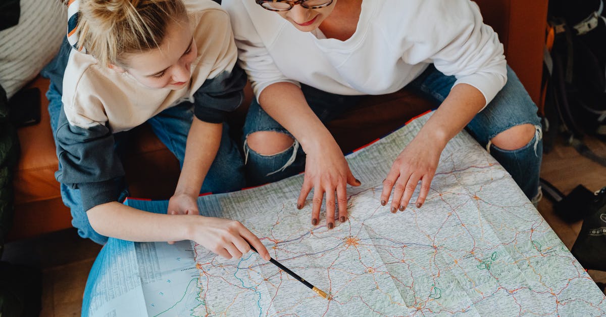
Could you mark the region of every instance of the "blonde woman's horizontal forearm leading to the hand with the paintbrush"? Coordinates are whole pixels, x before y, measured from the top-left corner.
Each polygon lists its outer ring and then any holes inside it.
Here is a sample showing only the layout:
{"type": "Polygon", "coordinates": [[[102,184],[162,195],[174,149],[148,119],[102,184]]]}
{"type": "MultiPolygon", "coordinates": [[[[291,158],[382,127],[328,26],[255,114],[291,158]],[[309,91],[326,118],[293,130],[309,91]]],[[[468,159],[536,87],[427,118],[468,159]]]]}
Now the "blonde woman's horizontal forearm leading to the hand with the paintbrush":
{"type": "Polygon", "coordinates": [[[192,239],[193,226],[204,220],[201,216],[149,213],[119,202],[95,206],[87,216],[99,234],[137,242],[192,239]]]}

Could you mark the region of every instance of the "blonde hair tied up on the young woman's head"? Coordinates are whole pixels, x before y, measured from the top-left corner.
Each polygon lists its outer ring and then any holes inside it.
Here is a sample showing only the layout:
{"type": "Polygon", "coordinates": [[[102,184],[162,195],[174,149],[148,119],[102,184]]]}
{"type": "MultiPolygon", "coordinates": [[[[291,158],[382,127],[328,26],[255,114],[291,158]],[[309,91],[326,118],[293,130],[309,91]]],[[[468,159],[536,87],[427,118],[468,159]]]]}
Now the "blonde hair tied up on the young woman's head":
{"type": "Polygon", "coordinates": [[[186,16],[181,0],[79,0],[78,47],[102,66],[124,67],[124,53],[159,47],[170,21],[186,16]]]}

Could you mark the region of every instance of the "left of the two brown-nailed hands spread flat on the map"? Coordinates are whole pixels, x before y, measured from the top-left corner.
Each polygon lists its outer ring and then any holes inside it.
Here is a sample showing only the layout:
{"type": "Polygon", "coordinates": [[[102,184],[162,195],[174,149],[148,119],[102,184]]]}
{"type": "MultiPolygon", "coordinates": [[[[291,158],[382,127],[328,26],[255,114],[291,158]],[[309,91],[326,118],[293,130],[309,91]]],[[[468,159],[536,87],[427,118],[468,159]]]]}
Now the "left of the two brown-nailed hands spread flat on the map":
{"type": "Polygon", "coordinates": [[[313,188],[311,224],[318,225],[322,199],[326,194],[326,225],[328,229],[332,229],[335,227],[335,199],[339,204],[339,220],[341,222],[347,220],[347,184],[361,185],[360,181],[351,174],[349,165],[336,142],[333,140],[328,145],[324,143],[324,146],[319,146],[315,151],[307,154],[305,177],[297,208],[303,208],[305,199],[313,188]]]}

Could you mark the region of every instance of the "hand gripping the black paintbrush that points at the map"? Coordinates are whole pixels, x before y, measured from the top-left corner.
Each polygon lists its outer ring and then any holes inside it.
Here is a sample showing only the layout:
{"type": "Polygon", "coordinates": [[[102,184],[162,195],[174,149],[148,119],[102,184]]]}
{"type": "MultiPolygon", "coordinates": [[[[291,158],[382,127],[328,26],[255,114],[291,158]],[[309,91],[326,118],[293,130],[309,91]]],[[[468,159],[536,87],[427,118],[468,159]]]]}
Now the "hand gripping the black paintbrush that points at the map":
{"type": "Polygon", "coordinates": [[[196,226],[192,240],[202,247],[227,259],[239,259],[250,251],[250,242],[259,255],[269,261],[270,255],[261,240],[251,233],[241,222],[230,219],[192,216],[201,219],[202,225],[196,226]]]}

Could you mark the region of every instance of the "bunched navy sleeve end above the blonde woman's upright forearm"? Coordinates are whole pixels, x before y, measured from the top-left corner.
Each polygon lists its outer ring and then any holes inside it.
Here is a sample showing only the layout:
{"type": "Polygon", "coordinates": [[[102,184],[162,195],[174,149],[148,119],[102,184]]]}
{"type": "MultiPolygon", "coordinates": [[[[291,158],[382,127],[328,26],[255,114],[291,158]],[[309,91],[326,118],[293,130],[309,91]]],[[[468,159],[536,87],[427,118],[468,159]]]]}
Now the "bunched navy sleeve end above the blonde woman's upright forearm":
{"type": "Polygon", "coordinates": [[[231,72],[222,72],[208,78],[194,94],[196,118],[210,123],[225,121],[227,114],[236,110],[244,101],[246,73],[235,65],[231,72]]]}

